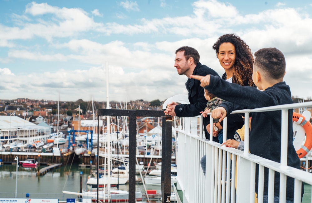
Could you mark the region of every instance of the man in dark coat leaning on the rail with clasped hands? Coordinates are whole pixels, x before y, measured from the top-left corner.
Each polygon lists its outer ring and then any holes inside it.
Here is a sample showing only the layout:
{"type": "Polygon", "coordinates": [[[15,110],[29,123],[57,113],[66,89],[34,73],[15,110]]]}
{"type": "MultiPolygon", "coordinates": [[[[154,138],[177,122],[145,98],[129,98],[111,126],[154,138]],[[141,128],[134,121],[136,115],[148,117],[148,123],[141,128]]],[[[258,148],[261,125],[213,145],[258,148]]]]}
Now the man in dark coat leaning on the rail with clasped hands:
{"type": "MultiPolygon", "coordinates": [[[[178,117],[193,117],[200,115],[199,112],[203,111],[206,107],[207,100],[204,97],[204,89],[200,87],[200,81],[190,78],[190,75],[206,76],[211,74],[220,77],[217,72],[211,68],[202,65],[199,62],[199,53],[192,47],[180,47],[175,52],[174,67],[177,68],[179,75],[186,75],[188,81],[185,83],[188,90],[188,100],[191,104],[178,104],[170,102],[167,104],[165,115],[178,117]]],[[[209,116],[204,118],[203,125],[205,129],[206,139],[209,139],[206,126],[209,123],[209,116]]],[[[217,137],[214,137],[217,141],[217,137]]]]}

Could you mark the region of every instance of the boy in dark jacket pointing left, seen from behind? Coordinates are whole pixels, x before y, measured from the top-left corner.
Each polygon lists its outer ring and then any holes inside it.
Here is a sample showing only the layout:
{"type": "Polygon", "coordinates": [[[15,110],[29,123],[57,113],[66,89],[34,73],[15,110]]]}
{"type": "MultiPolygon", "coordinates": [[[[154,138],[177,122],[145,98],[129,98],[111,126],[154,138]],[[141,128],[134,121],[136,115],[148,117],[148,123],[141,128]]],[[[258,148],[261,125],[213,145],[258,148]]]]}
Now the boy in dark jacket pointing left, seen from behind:
{"type": "MultiPolygon", "coordinates": [[[[255,57],[252,79],[259,90],[228,83],[212,75],[191,76],[200,80],[201,87],[228,101],[212,111],[213,118],[220,118],[222,121],[235,110],[293,103],[290,88],[283,82],[286,67],[283,53],[276,48],[263,48],[255,53],[255,57]]],[[[293,109],[288,110],[287,165],[299,169],[300,159],[292,144],[292,112],[293,109]]],[[[252,113],[249,141],[251,154],[280,163],[281,111],[252,113]]],[[[256,193],[258,193],[258,171],[257,164],[256,193]]],[[[265,168],[264,202],[268,201],[268,174],[269,170],[265,168]]],[[[274,202],[279,202],[280,174],[275,172],[274,177],[274,202]]],[[[302,195],[303,191],[302,184],[302,195]]],[[[294,179],[287,177],[286,202],[293,202],[293,199],[294,179]]]]}

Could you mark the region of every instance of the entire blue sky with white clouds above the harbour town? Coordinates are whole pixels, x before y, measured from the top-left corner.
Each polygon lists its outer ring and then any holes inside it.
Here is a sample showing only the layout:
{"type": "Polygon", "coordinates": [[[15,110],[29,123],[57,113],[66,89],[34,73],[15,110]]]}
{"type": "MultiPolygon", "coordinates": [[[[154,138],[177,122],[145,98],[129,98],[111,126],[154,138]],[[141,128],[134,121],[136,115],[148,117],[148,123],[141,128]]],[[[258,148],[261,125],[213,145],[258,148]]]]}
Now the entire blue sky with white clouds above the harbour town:
{"type": "Polygon", "coordinates": [[[164,100],[187,94],[174,51],[192,46],[224,72],[213,43],[236,33],[253,52],[277,47],[292,94],[312,96],[309,1],[0,0],[0,99],[164,100]],[[302,88],[304,87],[304,88],[302,88]],[[306,87],[306,88],[305,88],[306,87]]]}

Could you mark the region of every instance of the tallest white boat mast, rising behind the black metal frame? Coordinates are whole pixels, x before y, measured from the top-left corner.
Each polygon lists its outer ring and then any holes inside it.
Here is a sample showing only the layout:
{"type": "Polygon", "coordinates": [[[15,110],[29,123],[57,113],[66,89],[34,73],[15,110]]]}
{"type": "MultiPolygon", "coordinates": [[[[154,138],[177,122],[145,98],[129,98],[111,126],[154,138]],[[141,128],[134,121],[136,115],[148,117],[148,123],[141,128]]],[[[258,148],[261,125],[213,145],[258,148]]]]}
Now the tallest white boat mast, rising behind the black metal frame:
{"type": "MultiPolygon", "coordinates": [[[[106,109],[110,109],[108,62],[106,62],[106,109]]],[[[107,126],[107,200],[110,201],[110,116],[106,117],[107,126]]],[[[98,146],[99,147],[99,146],[98,146]]]]}

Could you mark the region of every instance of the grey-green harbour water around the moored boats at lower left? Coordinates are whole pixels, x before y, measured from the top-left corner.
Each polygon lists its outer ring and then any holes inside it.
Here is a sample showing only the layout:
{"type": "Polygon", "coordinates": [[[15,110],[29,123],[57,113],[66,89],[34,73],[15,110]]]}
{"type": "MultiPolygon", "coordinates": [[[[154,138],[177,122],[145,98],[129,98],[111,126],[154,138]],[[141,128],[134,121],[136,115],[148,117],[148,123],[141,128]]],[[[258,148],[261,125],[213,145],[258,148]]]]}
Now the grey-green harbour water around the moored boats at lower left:
{"type": "MultiPolygon", "coordinates": [[[[41,166],[44,167],[44,166],[41,166]]],[[[25,198],[26,193],[30,198],[51,198],[66,201],[66,198],[77,198],[76,195],[63,194],[62,191],[79,192],[80,171],[82,171],[82,186],[85,188],[90,168],[80,168],[78,163],[73,163],[49,171],[44,176],[37,176],[37,169],[18,167],[17,172],[17,198],[25,198]]],[[[0,166],[0,197],[15,197],[16,165],[0,166]]],[[[144,193],[142,184],[136,184],[144,193]]],[[[120,185],[119,190],[128,191],[128,184],[120,185]]],[[[160,186],[146,186],[147,190],[161,191],[160,186]]],[[[156,201],[158,202],[158,201],[156,201]]],[[[160,201],[159,201],[160,202],[160,201]]]]}

